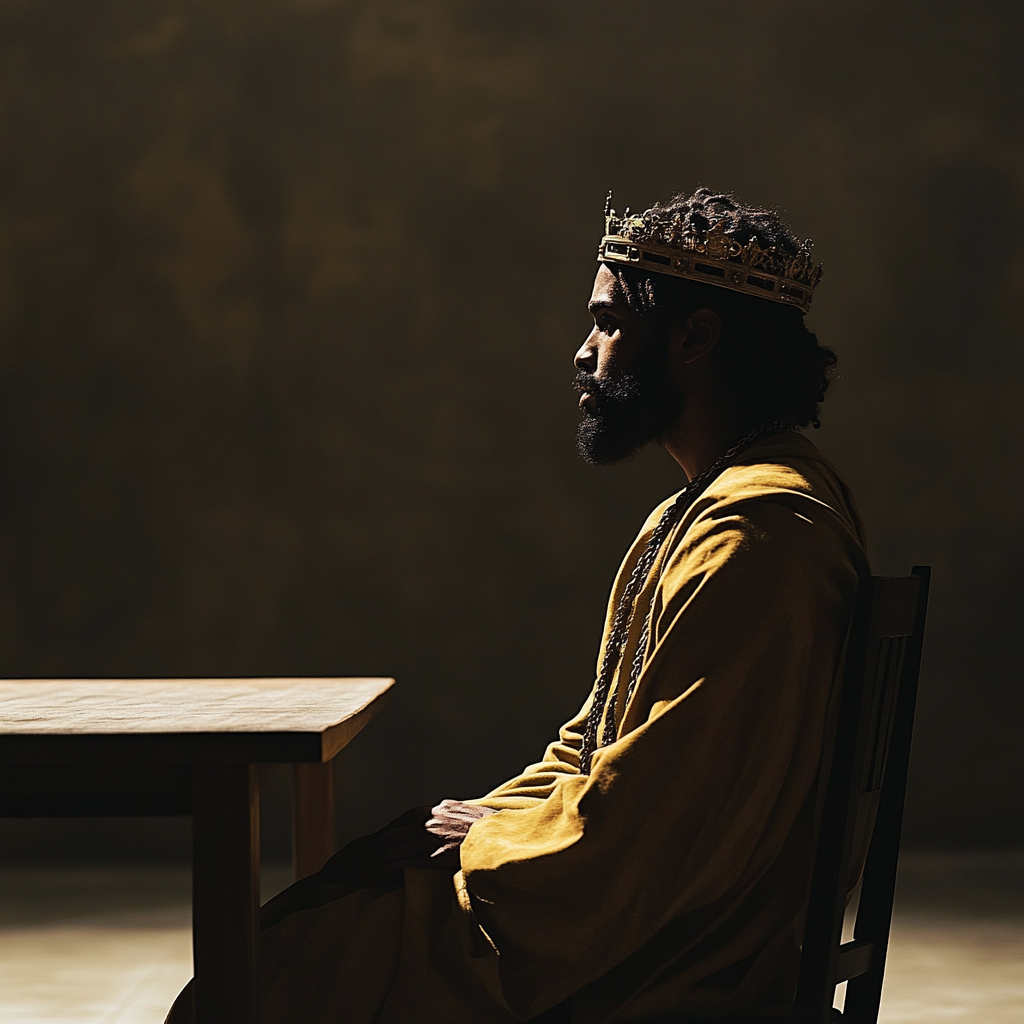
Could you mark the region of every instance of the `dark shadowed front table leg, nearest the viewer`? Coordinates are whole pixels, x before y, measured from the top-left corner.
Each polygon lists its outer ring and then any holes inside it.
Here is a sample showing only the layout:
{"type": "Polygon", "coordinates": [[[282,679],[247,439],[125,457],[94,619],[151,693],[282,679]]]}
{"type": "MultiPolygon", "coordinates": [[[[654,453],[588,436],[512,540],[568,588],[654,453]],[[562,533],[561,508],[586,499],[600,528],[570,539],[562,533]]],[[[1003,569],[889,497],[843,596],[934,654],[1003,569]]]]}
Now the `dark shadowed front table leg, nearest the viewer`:
{"type": "Polygon", "coordinates": [[[259,1024],[256,766],[193,766],[196,1024],[259,1024]]]}

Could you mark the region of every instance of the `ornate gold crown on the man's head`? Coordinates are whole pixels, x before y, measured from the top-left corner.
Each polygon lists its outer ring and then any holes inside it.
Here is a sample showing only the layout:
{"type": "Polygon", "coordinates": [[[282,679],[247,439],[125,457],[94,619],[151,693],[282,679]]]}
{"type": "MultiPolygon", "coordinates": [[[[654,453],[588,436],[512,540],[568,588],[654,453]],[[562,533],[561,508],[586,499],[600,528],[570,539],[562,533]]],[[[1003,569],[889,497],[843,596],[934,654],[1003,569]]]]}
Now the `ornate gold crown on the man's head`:
{"type": "Polygon", "coordinates": [[[810,242],[795,254],[762,249],[757,239],[742,245],[725,233],[724,220],[707,231],[695,231],[677,219],[667,231],[655,231],[648,241],[633,237],[637,228],[646,227],[642,217],[630,216],[629,209],[622,217],[615,216],[609,191],[604,204],[605,233],[597,258],[784,302],[805,313],[811,307],[822,270],[811,260],[810,242]]]}

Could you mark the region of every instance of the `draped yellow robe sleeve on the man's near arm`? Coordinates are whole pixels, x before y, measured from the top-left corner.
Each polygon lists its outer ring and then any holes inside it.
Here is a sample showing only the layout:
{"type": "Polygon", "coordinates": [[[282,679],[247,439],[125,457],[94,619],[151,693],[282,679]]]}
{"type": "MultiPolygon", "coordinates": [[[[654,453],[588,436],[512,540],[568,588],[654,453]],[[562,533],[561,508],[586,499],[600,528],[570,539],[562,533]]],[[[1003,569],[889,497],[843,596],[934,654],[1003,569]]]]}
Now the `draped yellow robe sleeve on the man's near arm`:
{"type": "Polygon", "coordinates": [[[580,775],[581,716],[509,803],[501,788],[486,798],[504,809],[470,829],[463,876],[517,1014],[559,1002],[778,855],[818,770],[858,575],[851,537],[820,503],[701,513],[663,571],[620,738],[580,775]]]}

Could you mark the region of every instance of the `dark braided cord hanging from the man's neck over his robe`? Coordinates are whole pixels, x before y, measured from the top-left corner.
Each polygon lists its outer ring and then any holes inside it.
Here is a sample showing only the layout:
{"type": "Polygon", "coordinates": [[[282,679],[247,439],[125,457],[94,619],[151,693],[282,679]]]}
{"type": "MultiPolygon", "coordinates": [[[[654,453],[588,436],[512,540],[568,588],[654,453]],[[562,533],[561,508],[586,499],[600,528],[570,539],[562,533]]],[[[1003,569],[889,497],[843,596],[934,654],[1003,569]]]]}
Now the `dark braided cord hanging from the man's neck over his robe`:
{"type": "MultiPolygon", "coordinates": [[[[623,589],[622,596],[618,599],[618,604],[615,607],[614,617],[611,621],[611,629],[608,631],[608,638],[604,644],[604,656],[601,658],[601,668],[598,671],[597,683],[594,686],[594,700],[591,705],[590,712],[587,714],[583,745],[580,750],[580,773],[582,775],[590,774],[591,761],[598,745],[607,746],[609,743],[613,743],[617,738],[618,726],[616,719],[618,689],[616,688],[614,692],[611,692],[611,699],[609,702],[608,696],[611,691],[611,681],[618,669],[618,665],[623,657],[623,649],[629,639],[630,626],[633,623],[633,614],[636,609],[636,600],[639,597],[640,592],[644,589],[644,586],[647,584],[651,569],[654,567],[654,563],[657,559],[657,555],[660,552],[663,545],[668,540],[669,535],[686,514],[687,509],[689,509],[693,502],[696,501],[712,480],[714,480],[715,477],[717,477],[719,473],[725,469],[726,465],[731,462],[731,460],[734,459],[744,447],[746,447],[748,444],[751,444],[768,434],[774,434],[782,430],[793,429],[795,428],[792,423],[784,420],[776,420],[774,423],[769,423],[765,426],[758,427],[756,430],[752,430],[744,438],[742,438],[742,440],[733,444],[728,452],[721,456],[721,458],[717,459],[713,465],[709,466],[702,473],[690,480],[690,482],[687,483],[686,486],[683,487],[683,489],[677,495],[676,500],[662,513],[662,517],[657,520],[657,524],[654,526],[653,530],[651,530],[651,535],[647,539],[647,545],[644,548],[643,553],[640,555],[640,558],[637,559],[637,563],[633,567],[633,571],[630,573],[630,579],[627,582],[626,587],[623,589]],[[606,707],[607,714],[605,714],[606,707]],[[604,718],[604,729],[601,736],[601,742],[598,744],[597,735],[602,718],[604,718]]],[[[640,640],[637,643],[637,648],[633,655],[633,662],[630,666],[630,679],[626,691],[625,706],[629,705],[630,699],[633,696],[633,692],[640,680],[643,663],[646,659],[647,646],[650,642],[651,612],[653,611],[653,605],[654,602],[651,601],[651,607],[648,609],[644,618],[640,640]]]]}

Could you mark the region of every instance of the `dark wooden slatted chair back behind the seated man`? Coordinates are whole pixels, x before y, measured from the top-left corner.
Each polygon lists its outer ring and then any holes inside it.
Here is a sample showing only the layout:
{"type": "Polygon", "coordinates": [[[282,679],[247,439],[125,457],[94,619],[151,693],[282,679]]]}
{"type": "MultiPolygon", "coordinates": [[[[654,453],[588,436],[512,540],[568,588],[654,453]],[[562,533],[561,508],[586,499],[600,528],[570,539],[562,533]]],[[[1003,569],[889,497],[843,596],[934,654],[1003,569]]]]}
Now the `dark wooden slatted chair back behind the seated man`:
{"type": "Polygon", "coordinates": [[[857,588],[794,1024],[836,1020],[836,986],[844,981],[842,1020],[878,1021],[930,574],[929,566],[915,565],[909,577],[865,577],[857,588]],[[843,943],[847,897],[865,845],[854,938],[843,943]]]}

